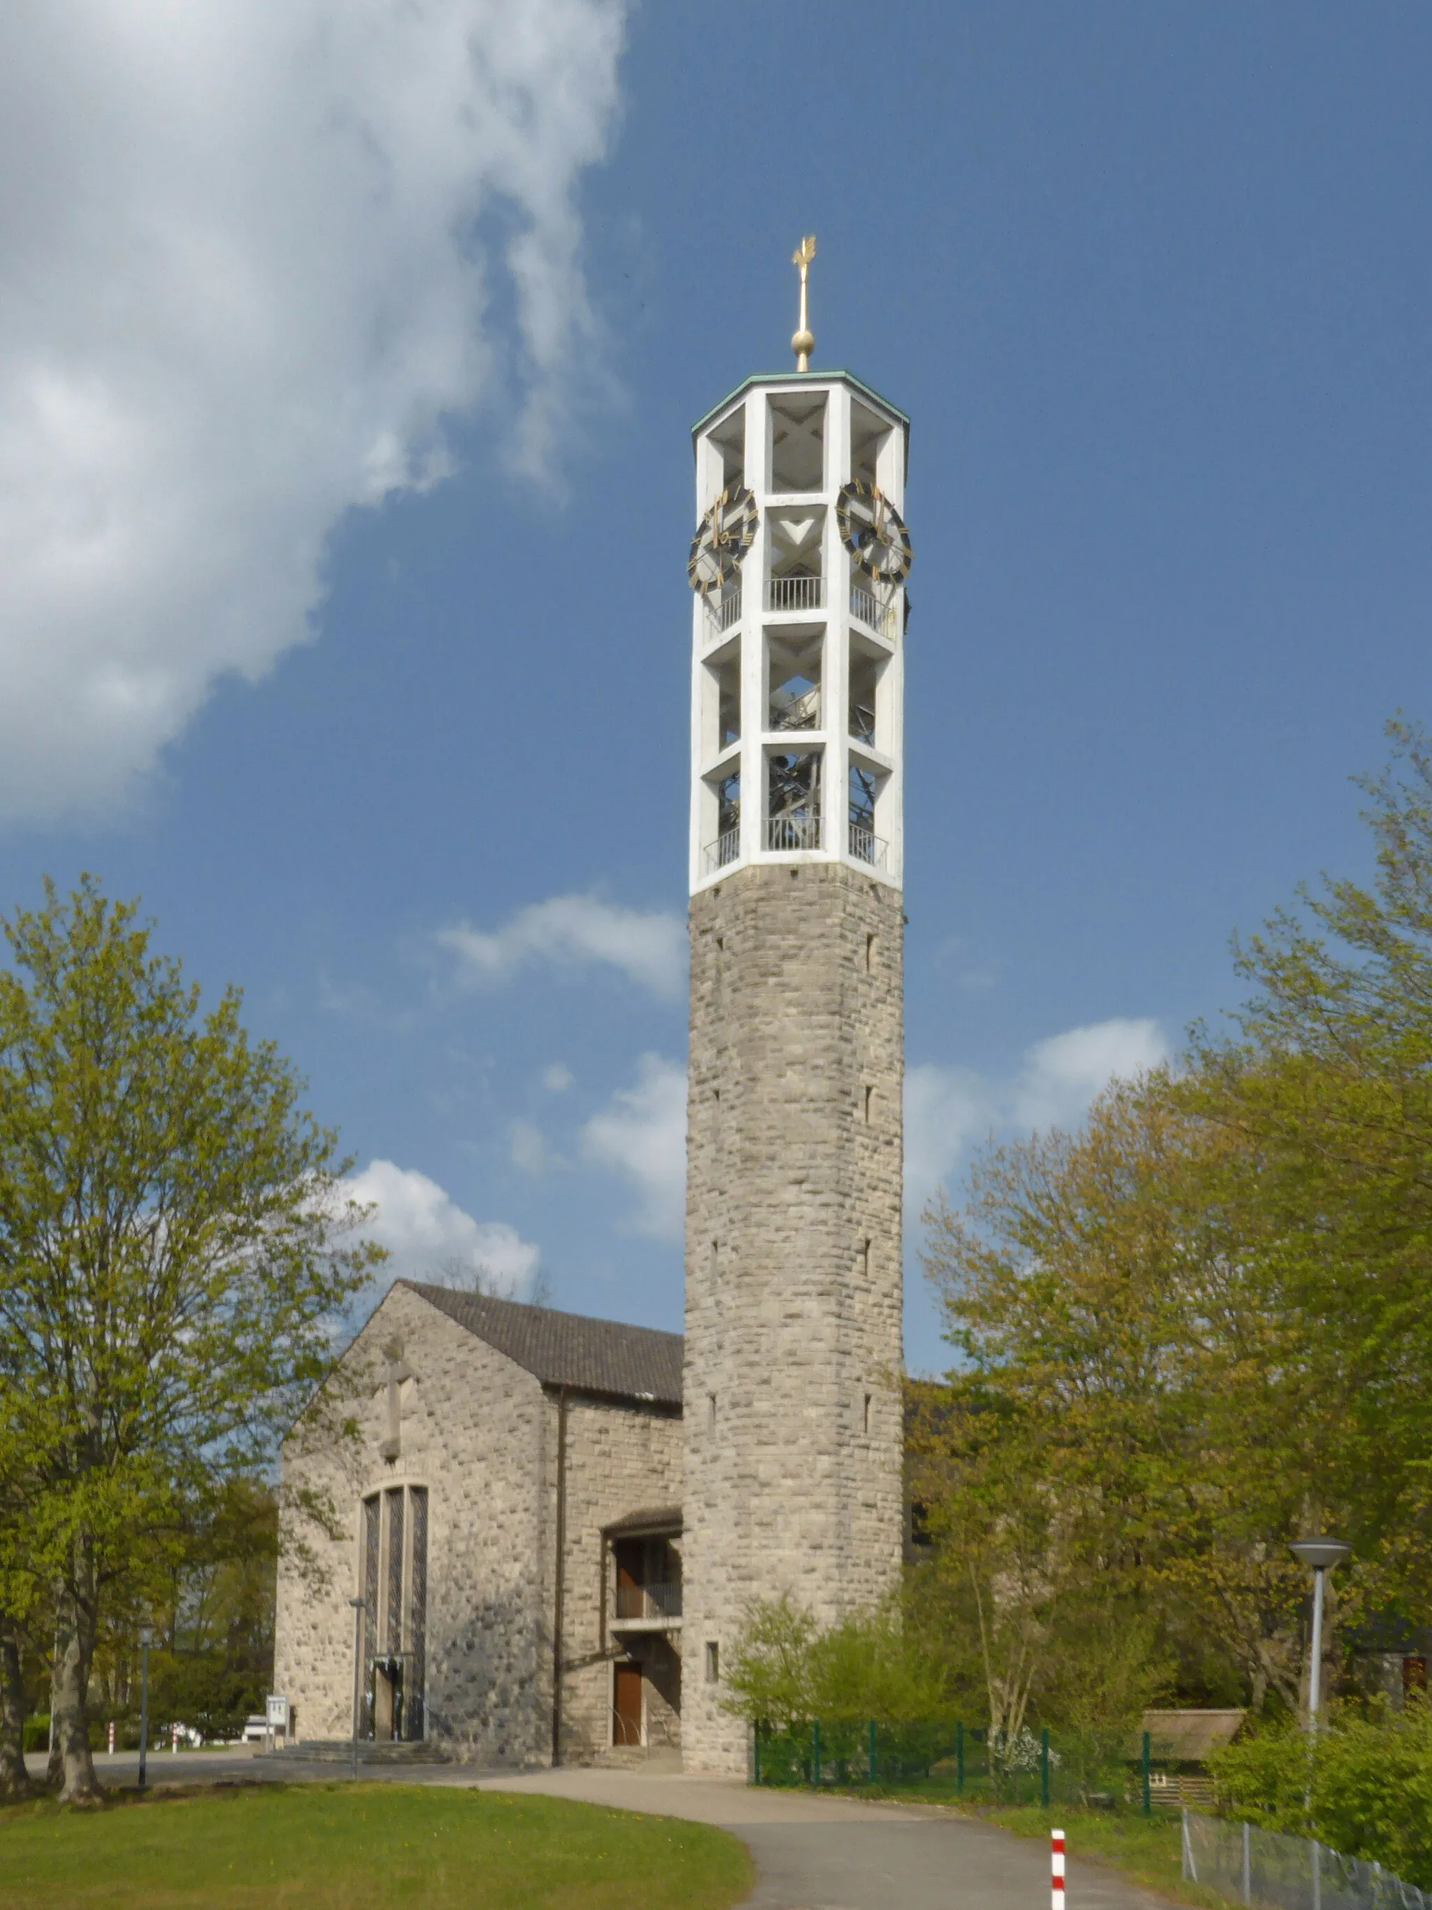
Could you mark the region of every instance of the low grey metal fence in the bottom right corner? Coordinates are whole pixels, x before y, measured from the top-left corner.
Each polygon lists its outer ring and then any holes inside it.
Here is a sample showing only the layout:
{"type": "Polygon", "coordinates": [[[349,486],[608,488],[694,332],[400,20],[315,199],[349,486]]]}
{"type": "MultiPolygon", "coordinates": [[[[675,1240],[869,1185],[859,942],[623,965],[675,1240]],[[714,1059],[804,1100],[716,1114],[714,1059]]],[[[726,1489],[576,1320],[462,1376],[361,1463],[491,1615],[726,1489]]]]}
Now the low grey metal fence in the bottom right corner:
{"type": "Polygon", "coordinates": [[[1184,1881],[1272,1910],[1432,1910],[1432,1895],[1380,1864],[1197,1811],[1184,1811],[1184,1881]]]}

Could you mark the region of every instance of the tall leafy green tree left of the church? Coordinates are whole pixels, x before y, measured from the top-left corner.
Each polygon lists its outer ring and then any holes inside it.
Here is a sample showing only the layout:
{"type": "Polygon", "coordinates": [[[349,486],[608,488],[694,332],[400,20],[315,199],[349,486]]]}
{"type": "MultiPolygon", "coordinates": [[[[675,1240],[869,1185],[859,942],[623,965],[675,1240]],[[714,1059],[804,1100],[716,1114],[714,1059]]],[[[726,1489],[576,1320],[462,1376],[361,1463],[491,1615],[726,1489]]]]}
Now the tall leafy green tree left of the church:
{"type": "Polygon", "coordinates": [[[105,1612],[271,1463],[380,1251],[290,1064],[237,991],[200,1012],[136,905],[46,884],[4,934],[0,1589],[52,1601],[63,1795],[88,1801],[105,1612]]]}

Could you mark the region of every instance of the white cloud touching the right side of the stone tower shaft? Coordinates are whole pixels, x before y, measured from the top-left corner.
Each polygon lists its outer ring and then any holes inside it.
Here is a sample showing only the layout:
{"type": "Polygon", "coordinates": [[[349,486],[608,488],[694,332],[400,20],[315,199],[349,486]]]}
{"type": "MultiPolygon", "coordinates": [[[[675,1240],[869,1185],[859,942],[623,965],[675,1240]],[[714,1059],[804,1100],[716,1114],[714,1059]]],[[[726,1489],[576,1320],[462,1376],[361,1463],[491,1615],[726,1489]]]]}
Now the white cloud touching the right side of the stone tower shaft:
{"type": "Polygon", "coordinates": [[[1014,1079],[928,1064],[907,1070],[907,1205],[918,1213],[985,1135],[1069,1127],[1115,1075],[1136,1075],[1167,1058],[1155,1020],[1115,1016],[1037,1041],[1014,1079]]]}

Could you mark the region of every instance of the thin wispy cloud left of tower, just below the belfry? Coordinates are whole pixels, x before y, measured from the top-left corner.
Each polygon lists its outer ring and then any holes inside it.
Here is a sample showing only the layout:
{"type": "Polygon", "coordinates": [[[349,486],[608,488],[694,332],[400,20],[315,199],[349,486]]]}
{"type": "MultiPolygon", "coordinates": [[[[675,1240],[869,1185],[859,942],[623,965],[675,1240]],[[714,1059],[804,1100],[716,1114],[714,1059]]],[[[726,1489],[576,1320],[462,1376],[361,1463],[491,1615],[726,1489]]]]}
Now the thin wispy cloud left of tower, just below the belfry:
{"type": "Polygon", "coordinates": [[[685,924],[680,915],[622,909],[596,896],[552,896],[519,909],[491,934],[458,923],[437,934],[458,959],[464,982],[504,982],[531,963],[611,963],[653,995],[685,986],[685,924]]]}

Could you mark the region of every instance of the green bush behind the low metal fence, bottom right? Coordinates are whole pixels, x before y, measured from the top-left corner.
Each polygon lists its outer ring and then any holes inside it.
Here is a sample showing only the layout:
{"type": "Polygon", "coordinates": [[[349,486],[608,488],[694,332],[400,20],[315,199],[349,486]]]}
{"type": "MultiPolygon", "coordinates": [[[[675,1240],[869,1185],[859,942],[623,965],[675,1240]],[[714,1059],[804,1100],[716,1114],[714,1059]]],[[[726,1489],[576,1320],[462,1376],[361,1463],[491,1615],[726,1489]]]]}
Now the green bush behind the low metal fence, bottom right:
{"type": "Polygon", "coordinates": [[[1224,1816],[1386,1864],[1432,1889],[1432,1708],[1335,1709],[1317,1736],[1260,1730],[1209,1759],[1224,1816]]]}

